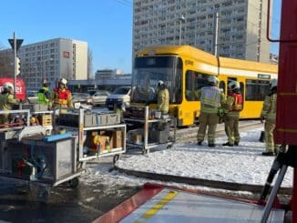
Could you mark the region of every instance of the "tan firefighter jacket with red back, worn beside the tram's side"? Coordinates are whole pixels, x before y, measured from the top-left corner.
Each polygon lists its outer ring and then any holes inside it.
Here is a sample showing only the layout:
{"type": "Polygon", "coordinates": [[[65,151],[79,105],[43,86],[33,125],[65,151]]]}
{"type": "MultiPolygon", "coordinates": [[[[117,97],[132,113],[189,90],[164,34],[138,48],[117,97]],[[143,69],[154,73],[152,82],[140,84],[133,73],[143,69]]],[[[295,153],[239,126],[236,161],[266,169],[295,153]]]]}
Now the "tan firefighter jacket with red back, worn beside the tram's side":
{"type": "Polygon", "coordinates": [[[227,117],[240,117],[240,112],[243,109],[242,95],[240,93],[229,93],[223,108],[227,117]]]}

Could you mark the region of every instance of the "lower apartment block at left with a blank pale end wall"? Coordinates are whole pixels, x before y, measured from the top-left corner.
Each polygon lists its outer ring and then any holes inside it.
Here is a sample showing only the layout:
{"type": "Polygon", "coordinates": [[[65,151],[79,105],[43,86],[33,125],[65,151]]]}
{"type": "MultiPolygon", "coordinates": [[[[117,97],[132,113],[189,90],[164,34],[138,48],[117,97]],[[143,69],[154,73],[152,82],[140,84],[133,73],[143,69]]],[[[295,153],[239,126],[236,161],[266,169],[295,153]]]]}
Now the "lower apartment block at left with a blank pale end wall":
{"type": "MultiPolygon", "coordinates": [[[[11,49],[0,51],[0,57],[11,54],[11,49]]],[[[21,75],[27,89],[38,89],[44,78],[56,86],[56,80],[87,79],[87,42],[55,38],[26,46],[17,52],[21,60],[21,75]]]]}

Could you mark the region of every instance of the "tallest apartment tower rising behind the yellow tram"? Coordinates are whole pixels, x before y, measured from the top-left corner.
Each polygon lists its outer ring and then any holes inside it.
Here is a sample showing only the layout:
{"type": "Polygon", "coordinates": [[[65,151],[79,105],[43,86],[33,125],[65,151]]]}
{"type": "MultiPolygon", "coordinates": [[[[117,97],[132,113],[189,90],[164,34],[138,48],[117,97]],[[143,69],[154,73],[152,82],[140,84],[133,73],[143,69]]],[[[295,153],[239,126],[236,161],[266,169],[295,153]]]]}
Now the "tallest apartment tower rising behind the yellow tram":
{"type": "Polygon", "coordinates": [[[267,0],[134,0],[133,13],[133,55],[179,41],[214,54],[218,33],[219,56],[270,61],[267,0]]]}

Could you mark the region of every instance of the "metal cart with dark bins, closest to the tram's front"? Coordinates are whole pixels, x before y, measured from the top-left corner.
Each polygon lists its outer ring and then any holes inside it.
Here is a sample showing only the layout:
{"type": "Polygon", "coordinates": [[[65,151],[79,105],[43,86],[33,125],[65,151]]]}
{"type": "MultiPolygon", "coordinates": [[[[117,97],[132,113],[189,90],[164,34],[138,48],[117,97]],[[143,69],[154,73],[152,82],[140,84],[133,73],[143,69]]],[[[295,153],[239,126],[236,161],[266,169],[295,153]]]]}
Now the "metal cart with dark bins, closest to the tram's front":
{"type": "Polygon", "coordinates": [[[126,123],[138,123],[143,126],[143,133],[141,134],[143,140],[130,140],[127,143],[128,147],[138,147],[142,150],[142,154],[149,153],[150,148],[165,146],[167,148],[172,147],[176,141],[176,118],[175,117],[164,117],[164,118],[155,118],[149,112],[148,106],[129,106],[130,108],[138,109],[138,115],[133,117],[133,114],[130,114],[130,117],[125,117],[124,120],[126,123]],[[139,114],[140,113],[140,114],[139,114]],[[167,129],[158,131],[154,129],[154,125],[158,126],[159,124],[166,124],[167,129]],[[172,132],[172,134],[170,134],[172,132]]]}

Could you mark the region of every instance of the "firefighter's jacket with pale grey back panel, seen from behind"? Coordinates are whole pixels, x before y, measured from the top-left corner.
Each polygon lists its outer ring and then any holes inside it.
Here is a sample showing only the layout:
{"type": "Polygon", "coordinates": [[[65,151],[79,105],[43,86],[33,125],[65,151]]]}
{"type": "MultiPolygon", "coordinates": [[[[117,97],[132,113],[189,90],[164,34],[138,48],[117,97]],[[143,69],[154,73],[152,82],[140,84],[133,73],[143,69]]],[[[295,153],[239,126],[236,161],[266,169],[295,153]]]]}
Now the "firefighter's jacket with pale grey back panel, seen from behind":
{"type": "Polygon", "coordinates": [[[210,114],[217,114],[221,103],[226,100],[217,86],[204,86],[195,95],[200,99],[201,112],[210,114]]]}

